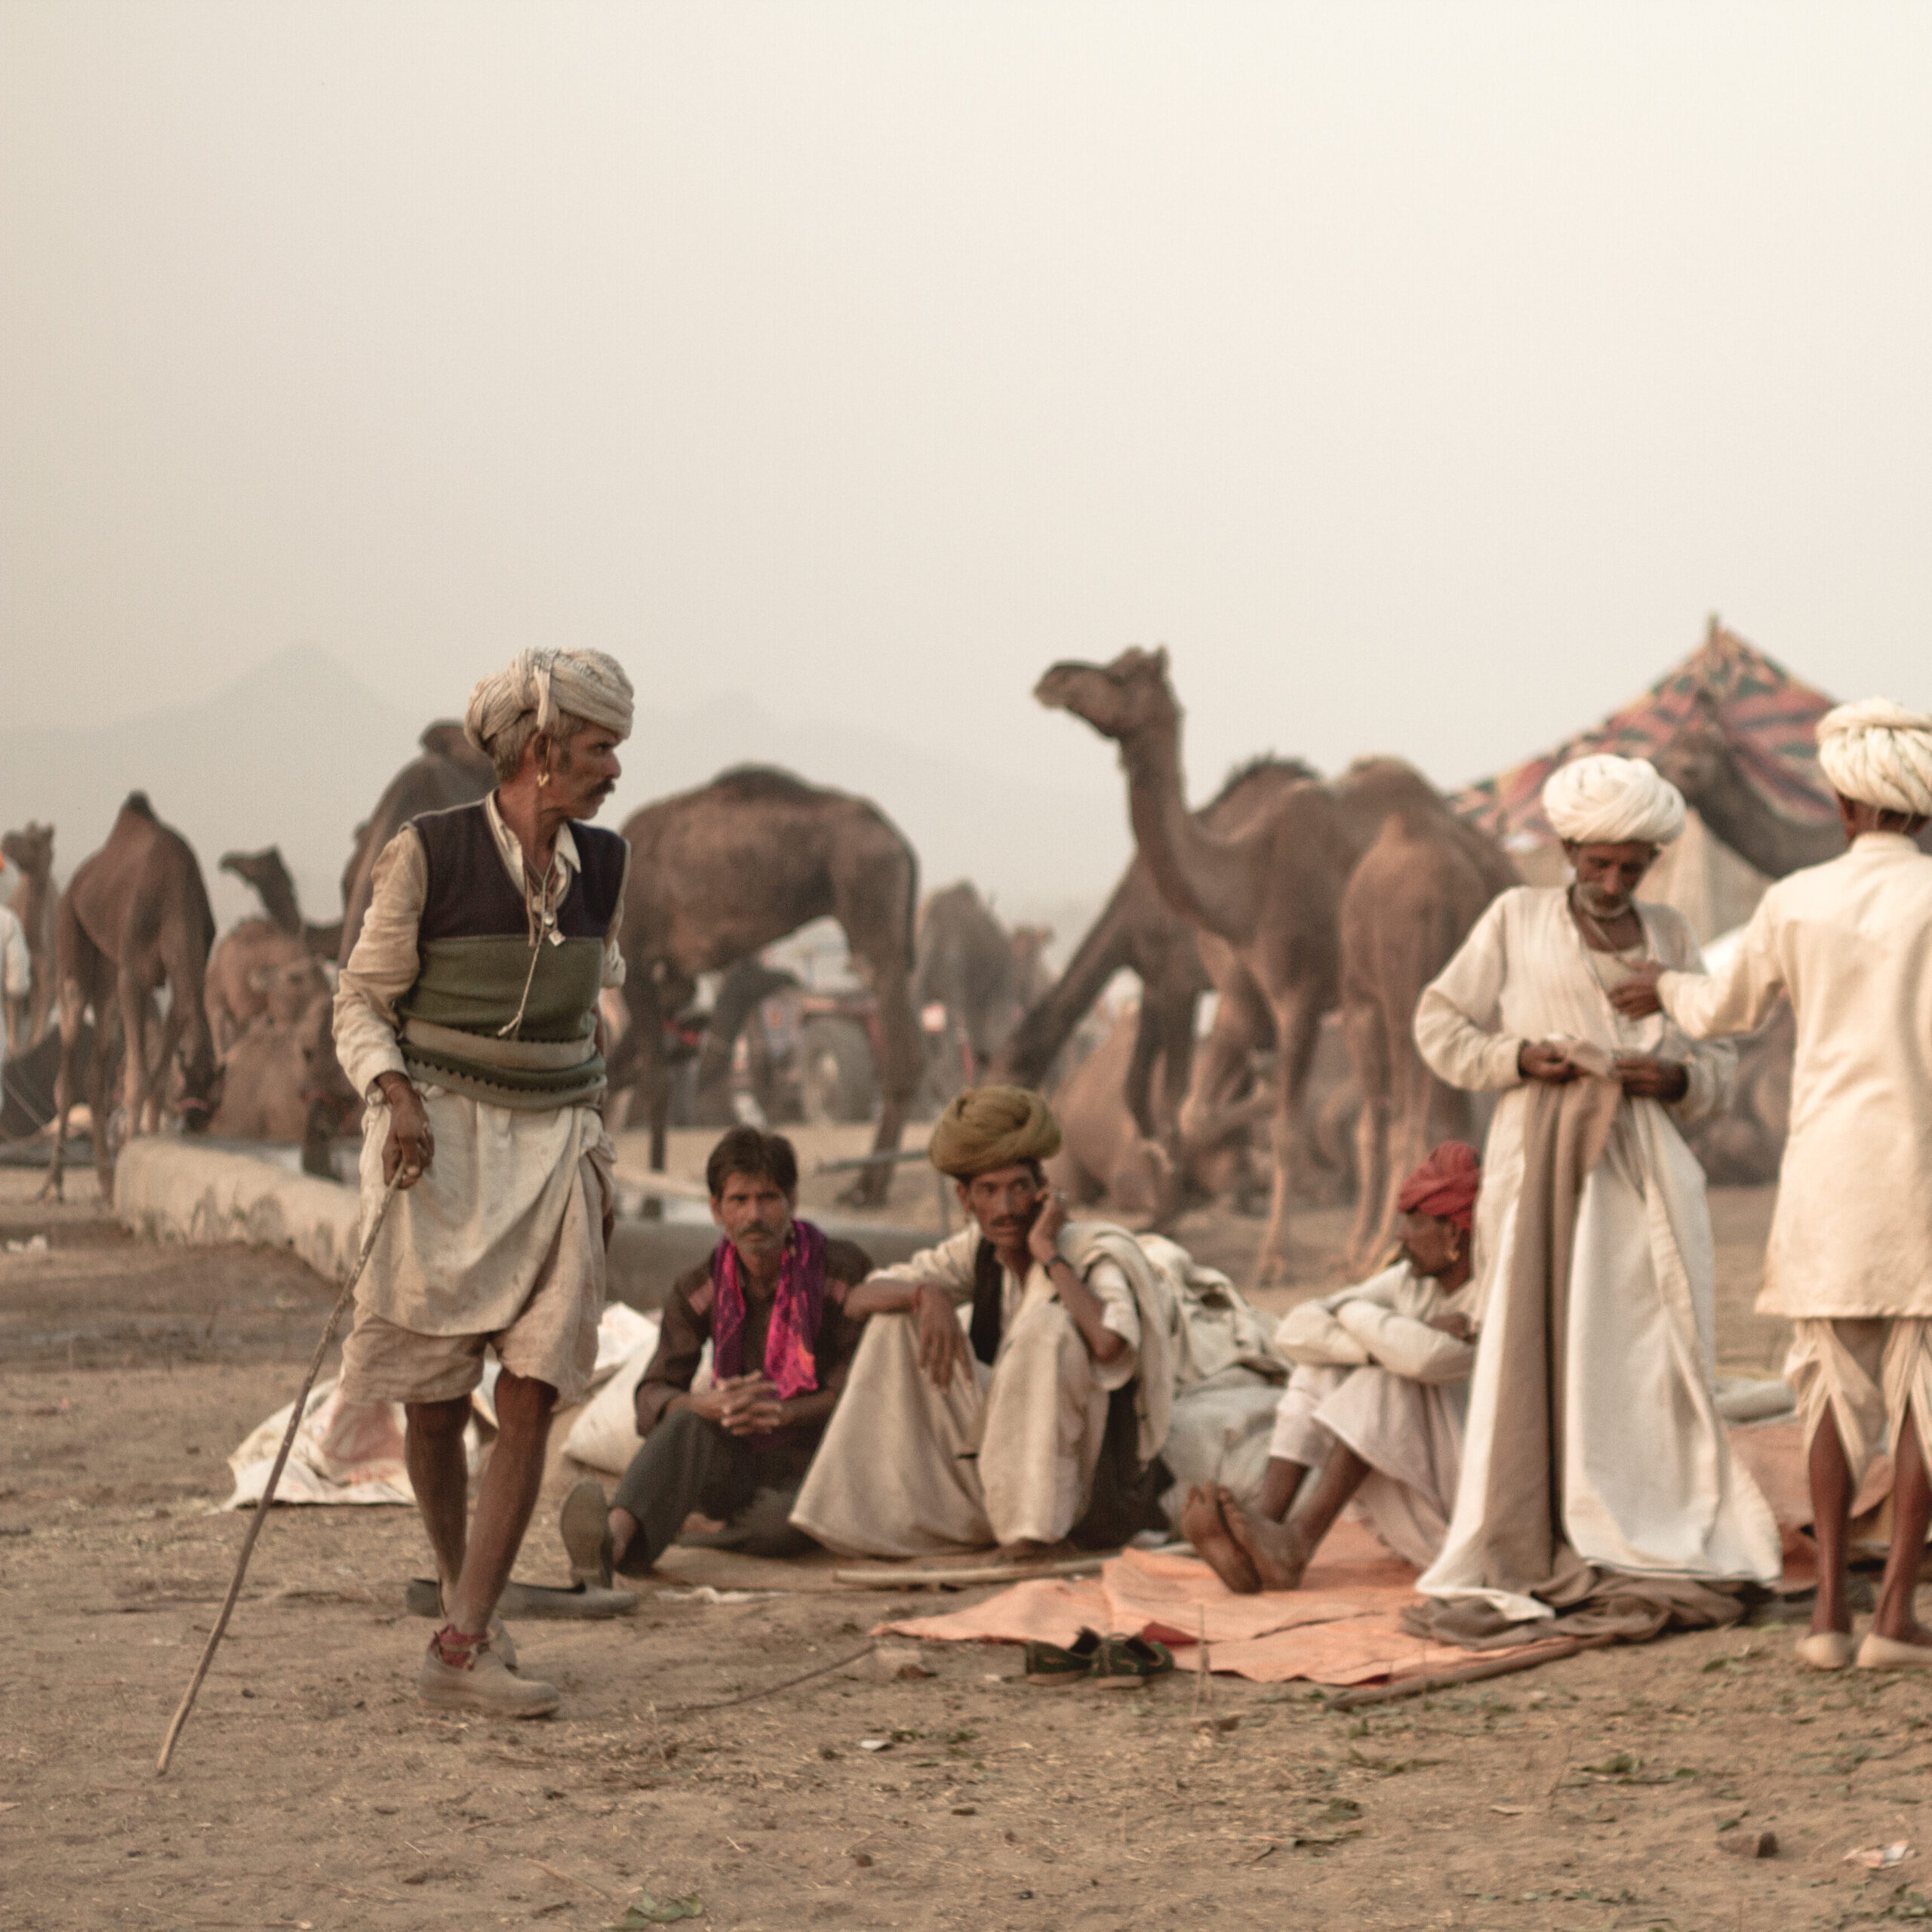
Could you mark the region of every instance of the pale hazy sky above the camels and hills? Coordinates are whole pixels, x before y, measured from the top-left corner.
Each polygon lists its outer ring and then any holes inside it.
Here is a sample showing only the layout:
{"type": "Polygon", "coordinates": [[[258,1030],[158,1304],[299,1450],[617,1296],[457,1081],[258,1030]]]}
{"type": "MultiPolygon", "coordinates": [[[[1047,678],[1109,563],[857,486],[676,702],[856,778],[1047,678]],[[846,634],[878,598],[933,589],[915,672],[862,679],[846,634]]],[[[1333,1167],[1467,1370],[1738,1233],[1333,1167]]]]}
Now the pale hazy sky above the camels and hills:
{"type": "Polygon", "coordinates": [[[1932,703],[1928,100],[1924,6],[6,0],[10,721],[585,641],[1117,784],[1028,692],[1165,641],[1202,790],[1461,781],[1710,611],[1932,703]]]}

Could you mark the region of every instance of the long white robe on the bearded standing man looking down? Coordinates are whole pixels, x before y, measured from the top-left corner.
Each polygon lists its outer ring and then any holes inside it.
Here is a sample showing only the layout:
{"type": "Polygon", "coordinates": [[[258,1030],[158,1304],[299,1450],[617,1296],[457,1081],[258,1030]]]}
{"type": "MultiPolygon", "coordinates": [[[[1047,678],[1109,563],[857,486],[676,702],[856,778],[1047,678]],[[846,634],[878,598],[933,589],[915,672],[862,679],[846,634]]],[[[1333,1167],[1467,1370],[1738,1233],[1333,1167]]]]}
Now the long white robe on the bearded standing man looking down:
{"type": "MultiPolygon", "coordinates": [[[[1700,972],[1685,920],[1640,904],[1652,958],[1700,972]]],[[[1683,1061],[1675,1105],[1623,1099],[1604,1157],[1584,1180],[1571,1265],[1563,1524],[1586,1561],[1633,1575],[1754,1578],[1781,1569],[1777,1524],[1729,1453],[1712,1395],[1716,1250],[1704,1173],[1677,1132],[1723,1105],[1733,1057],[1663,1014],[1629,1020],[1604,991],[1617,966],[1592,956],[1563,889],[1519,887],[1493,900],[1457,956],[1422,993],[1416,1045],[1451,1086],[1499,1092],[1476,1206],[1476,1320],[1511,1265],[1522,1192],[1526,1088],[1517,1053],[1532,1039],[1578,1039],[1607,1053],[1683,1061]],[[1600,978],[1602,974],[1602,978],[1600,978]]],[[[1499,1320],[1505,1318],[1501,1302],[1499,1320]]],[[[1490,1441],[1509,1391],[1501,1347],[1484,1327],[1470,1379],[1457,1505],[1441,1555],[1418,1588],[1480,1596],[1505,1617],[1548,1605],[1482,1586],[1482,1507],[1490,1441]]]]}

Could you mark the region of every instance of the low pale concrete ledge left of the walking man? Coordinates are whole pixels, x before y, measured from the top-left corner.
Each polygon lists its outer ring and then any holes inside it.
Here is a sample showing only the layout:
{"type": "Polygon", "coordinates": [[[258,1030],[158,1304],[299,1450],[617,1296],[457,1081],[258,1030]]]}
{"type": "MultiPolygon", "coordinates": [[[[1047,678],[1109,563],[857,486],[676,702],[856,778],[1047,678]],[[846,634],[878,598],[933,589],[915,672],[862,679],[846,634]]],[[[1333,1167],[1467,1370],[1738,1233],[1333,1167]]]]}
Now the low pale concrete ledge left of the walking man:
{"type": "Polygon", "coordinates": [[[151,1240],[290,1248],[327,1281],[348,1281],[361,1233],[354,1188],[174,1134],[120,1150],[114,1213],[151,1240]]]}

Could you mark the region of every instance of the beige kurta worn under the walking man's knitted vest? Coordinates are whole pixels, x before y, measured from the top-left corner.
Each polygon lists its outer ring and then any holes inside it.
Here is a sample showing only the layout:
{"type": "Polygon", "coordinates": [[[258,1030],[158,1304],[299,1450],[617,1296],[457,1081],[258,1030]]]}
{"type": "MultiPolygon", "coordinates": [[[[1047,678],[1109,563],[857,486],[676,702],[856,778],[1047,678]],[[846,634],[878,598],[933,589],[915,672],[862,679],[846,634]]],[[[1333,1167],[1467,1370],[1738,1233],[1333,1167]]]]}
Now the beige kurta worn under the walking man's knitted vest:
{"type": "MultiPolygon", "coordinates": [[[[524,891],[524,848],[497,798],[485,817],[512,885],[524,891]]],[[[553,885],[578,889],[578,846],[556,835],[553,885]]],[[[375,1092],[384,1072],[406,1072],[396,1001],[421,970],[417,929],[429,896],[429,864],[413,827],[375,862],[363,929],[336,987],[336,1057],[369,1097],[363,1113],[363,1225],[383,1198],[388,1107],[375,1092]]],[[[611,920],[603,983],[620,985],[616,947],[622,904],[611,920]]],[[[435,1134],[429,1171],[398,1192],[381,1250],[355,1291],[357,1306],[421,1335],[493,1335],[508,1329],[551,1271],[582,1273],[603,1294],[605,1208],[614,1200],[614,1150],[595,1107],[547,1111],[493,1107],[440,1086],[417,1086],[435,1134]]]]}

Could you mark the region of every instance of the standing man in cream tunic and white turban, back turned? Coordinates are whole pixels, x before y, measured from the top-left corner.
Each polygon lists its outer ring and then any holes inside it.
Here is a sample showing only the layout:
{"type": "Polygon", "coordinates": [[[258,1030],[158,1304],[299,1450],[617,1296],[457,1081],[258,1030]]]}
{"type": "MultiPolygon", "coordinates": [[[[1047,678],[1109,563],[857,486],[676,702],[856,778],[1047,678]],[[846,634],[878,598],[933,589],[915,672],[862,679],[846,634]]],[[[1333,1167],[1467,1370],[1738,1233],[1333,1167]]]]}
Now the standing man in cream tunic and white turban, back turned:
{"type": "Polygon", "coordinates": [[[1847,1522],[1872,1457],[1893,1455],[1891,1553],[1866,1667],[1932,1665],[1913,1615],[1932,1520],[1932,717],[1888,699],[1818,723],[1849,850],[1772,885],[1729,970],[1648,970],[1619,995],[1708,1039],[1797,1018],[1791,1130],[1758,1312],[1793,1323],[1818,1538],[1818,1600],[1799,1658],[1853,1662],[1847,1522]],[[1654,993],[1650,991],[1654,987],[1654,993]]]}

